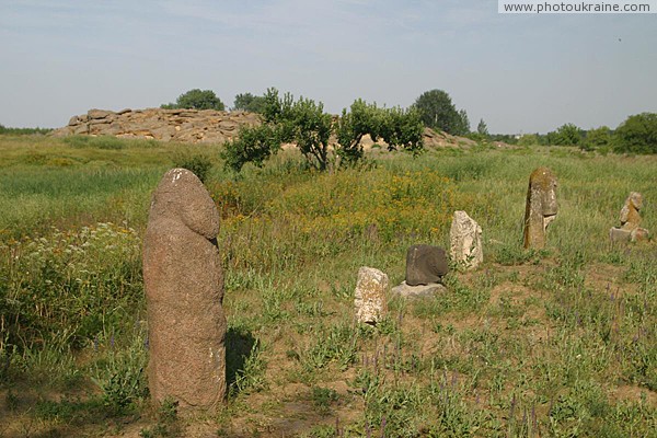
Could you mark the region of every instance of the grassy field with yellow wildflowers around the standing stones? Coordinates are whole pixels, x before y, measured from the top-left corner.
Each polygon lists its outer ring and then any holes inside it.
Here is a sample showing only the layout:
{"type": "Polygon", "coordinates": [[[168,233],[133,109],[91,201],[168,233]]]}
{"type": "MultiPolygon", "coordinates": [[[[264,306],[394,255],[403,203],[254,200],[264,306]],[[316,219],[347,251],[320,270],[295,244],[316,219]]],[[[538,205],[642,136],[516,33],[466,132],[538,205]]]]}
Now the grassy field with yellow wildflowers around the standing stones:
{"type": "Polygon", "coordinates": [[[286,152],[224,173],[219,147],[0,136],[0,437],[657,437],[657,244],[612,247],[631,191],[657,232],[657,157],[569,148],[373,150],[318,173],[286,152]],[[227,407],[152,406],[141,238],[161,175],[191,157],[222,217],[227,407]],[[558,178],[541,252],[528,177],[558,178]],[[454,210],[484,264],[449,292],[354,323],[360,266],[404,278],[454,210]]]}

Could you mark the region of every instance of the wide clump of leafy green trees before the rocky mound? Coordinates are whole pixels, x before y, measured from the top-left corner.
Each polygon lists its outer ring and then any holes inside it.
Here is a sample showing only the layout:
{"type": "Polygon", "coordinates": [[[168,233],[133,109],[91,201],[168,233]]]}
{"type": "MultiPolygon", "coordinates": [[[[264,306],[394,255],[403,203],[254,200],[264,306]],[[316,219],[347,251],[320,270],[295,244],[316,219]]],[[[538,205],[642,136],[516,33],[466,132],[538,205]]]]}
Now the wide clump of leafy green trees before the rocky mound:
{"type": "Polygon", "coordinates": [[[241,129],[239,138],[227,143],[222,153],[227,168],[240,171],[246,162],[262,165],[281,143],[293,142],[311,166],[326,170],[332,134],[337,139],[335,153],[347,165],[362,158],[360,140],[366,134],[374,141],[381,138],[391,148],[401,147],[414,154],[424,148],[424,128],[415,110],[379,108],[357,100],[350,111],[343,110],[342,117],[334,123],[333,117],[324,113],[322,103],[303,97],[295,101],[289,93],[280,97],[276,89],[267,90],[263,99],[264,124],[241,129]]]}

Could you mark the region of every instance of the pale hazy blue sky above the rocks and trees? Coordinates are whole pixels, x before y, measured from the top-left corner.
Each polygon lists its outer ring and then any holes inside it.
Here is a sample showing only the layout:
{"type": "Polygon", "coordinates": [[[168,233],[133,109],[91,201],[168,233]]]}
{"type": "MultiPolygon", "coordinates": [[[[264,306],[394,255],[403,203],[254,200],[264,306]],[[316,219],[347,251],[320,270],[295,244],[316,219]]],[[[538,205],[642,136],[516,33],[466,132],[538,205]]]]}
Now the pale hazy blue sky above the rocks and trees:
{"type": "Polygon", "coordinates": [[[497,0],[0,0],[0,124],[192,89],[267,88],[338,114],[449,93],[472,128],[615,128],[657,113],[657,14],[498,14],[497,0]]]}

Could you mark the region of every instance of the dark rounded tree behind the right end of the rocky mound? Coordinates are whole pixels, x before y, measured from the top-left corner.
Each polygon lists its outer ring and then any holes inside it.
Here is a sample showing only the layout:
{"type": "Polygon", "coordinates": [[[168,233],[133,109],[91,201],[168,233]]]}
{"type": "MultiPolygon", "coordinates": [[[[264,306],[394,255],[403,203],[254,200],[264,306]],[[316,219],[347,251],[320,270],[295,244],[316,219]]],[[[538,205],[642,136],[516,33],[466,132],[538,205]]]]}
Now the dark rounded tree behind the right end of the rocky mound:
{"type": "Polygon", "coordinates": [[[424,92],[415,101],[414,107],[419,112],[426,127],[440,129],[454,136],[470,131],[470,122],[464,111],[459,113],[449,94],[442,90],[424,92]]]}

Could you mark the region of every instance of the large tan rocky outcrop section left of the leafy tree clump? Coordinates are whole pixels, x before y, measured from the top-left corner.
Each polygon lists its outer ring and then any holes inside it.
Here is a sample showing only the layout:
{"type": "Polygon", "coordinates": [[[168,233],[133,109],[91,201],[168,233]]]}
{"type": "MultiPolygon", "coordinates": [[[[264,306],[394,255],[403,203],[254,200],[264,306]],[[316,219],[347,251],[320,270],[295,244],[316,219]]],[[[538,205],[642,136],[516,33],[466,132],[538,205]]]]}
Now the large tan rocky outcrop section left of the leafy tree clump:
{"type": "Polygon", "coordinates": [[[242,126],[261,124],[257,114],[214,110],[90,110],[73,116],[68,126],[56,129],[58,137],[70,135],[115,136],[182,142],[223,142],[238,136],[242,126]]]}

